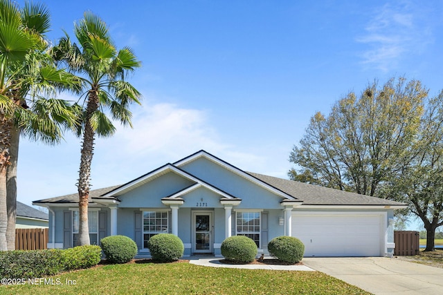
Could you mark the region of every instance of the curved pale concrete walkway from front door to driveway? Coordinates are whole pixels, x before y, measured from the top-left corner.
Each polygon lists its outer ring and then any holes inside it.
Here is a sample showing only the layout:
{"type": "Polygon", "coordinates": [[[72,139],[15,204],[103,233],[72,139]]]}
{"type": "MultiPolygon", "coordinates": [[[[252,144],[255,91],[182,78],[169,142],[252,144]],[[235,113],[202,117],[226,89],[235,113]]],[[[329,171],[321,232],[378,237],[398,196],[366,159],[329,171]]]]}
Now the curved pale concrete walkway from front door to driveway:
{"type": "MultiPolygon", "coordinates": [[[[191,256],[189,263],[193,265],[201,265],[206,267],[226,267],[226,268],[244,268],[244,269],[272,269],[272,270],[301,270],[301,271],[314,271],[307,267],[306,265],[227,265],[220,263],[222,257],[201,257],[201,256],[191,256]]],[[[271,259],[270,257],[265,257],[265,259],[271,259]]]]}

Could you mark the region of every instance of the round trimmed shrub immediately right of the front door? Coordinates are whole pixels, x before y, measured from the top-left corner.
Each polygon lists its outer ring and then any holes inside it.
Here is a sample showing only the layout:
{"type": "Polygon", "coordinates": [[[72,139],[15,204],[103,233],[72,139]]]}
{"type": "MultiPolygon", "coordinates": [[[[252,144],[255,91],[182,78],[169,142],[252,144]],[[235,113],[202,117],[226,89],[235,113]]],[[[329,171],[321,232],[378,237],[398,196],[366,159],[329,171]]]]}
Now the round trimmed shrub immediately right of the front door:
{"type": "Polygon", "coordinates": [[[221,255],[226,260],[251,263],[257,256],[257,245],[246,236],[231,236],[221,243],[221,255]]]}

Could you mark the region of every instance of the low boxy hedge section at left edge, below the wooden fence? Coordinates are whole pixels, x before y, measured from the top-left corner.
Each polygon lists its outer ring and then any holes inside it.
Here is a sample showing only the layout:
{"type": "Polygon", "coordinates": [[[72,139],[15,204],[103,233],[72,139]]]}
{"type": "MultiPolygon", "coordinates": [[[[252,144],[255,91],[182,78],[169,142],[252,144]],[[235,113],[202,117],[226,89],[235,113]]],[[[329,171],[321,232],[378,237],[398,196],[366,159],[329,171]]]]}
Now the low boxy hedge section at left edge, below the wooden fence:
{"type": "Polygon", "coordinates": [[[63,251],[0,251],[0,278],[37,278],[58,274],[64,269],[63,251]]]}

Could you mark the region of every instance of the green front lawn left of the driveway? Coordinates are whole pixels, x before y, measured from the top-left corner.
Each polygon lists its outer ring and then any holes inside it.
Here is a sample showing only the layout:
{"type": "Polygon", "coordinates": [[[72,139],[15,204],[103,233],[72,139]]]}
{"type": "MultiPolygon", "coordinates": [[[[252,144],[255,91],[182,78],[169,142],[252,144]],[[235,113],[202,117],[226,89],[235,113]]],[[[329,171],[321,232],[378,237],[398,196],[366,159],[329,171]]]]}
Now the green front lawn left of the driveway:
{"type": "Polygon", "coordinates": [[[104,265],[51,278],[63,285],[2,285],[0,294],[370,294],[320,272],[190,263],[104,265]]]}

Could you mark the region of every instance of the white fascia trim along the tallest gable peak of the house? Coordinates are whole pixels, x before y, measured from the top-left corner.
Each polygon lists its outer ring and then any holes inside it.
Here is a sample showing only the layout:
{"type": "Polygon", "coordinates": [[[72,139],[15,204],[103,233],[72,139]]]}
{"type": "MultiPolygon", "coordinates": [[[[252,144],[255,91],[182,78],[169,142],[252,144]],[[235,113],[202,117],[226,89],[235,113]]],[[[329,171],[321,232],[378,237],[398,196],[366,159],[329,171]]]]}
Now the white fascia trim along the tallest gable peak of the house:
{"type": "Polygon", "coordinates": [[[288,195],[287,193],[284,193],[283,191],[280,191],[280,189],[275,189],[275,187],[272,187],[271,185],[267,184],[266,182],[263,182],[262,180],[259,180],[255,177],[253,177],[252,175],[249,175],[248,173],[242,171],[242,169],[239,169],[231,164],[228,164],[228,162],[224,162],[223,160],[220,160],[219,158],[216,158],[215,156],[210,155],[210,153],[207,153],[205,151],[199,151],[198,153],[195,153],[194,155],[192,155],[189,158],[183,159],[179,162],[175,162],[174,165],[183,166],[184,164],[192,162],[193,160],[200,158],[200,157],[205,157],[208,160],[211,160],[211,161],[219,164],[220,166],[224,166],[224,168],[226,168],[230,171],[233,171],[237,175],[240,175],[243,178],[246,178],[247,180],[259,185],[260,187],[263,187],[264,189],[267,189],[268,191],[271,191],[271,193],[275,193],[276,195],[281,196],[282,198],[297,200],[293,196],[288,195]]]}

